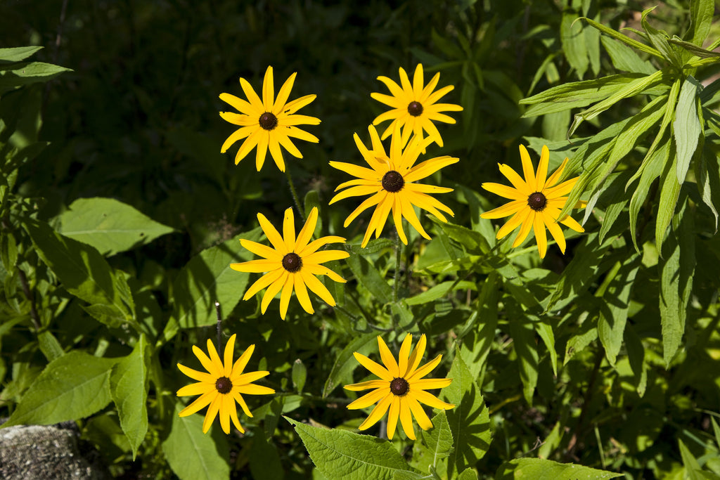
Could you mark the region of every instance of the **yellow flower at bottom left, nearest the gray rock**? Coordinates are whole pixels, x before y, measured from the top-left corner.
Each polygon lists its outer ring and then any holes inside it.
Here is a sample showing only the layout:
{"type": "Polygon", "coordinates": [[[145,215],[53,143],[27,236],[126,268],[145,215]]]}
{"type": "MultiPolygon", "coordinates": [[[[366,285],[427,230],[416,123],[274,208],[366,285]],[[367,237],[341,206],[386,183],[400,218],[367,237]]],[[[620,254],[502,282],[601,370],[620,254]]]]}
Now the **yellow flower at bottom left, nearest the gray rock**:
{"type": "Polygon", "coordinates": [[[192,404],[182,409],[179,415],[187,417],[210,405],[207,408],[205,420],[202,422],[202,433],[207,433],[207,430],[210,430],[210,424],[215,420],[215,415],[220,415],[220,427],[222,427],[223,432],[230,433],[230,419],[232,418],[235,427],[244,433],[245,430],[243,430],[238,420],[238,410],[235,407],[235,402],[238,402],[240,407],[243,407],[243,411],[248,417],[252,417],[253,414],[250,413],[250,409],[248,409],[248,405],[243,399],[243,394],[265,395],[275,393],[273,389],[266,386],[253,385],[253,381],[263,378],[270,372],[253,371],[243,373],[243,369],[253,354],[255,345],[250,345],[245,350],[245,353],[238,358],[235,365],[233,365],[234,347],[235,335],[230,337],[228,344],[225,345],[225,362],[223,363],[220,361],[220,356],[217,355],[217,350],[215,350],[215,345],[212,345],[212,341],[207,340],[207,351],[210,353],[210,357],[205,355],[197,346],[192,345],[193,353],[208,373],[193,370],[178,363],[178,368],[182,373],[185,373],[193,380],[197,380],[197,384],[187,385],[179,389],[178,397],[187,395],[200,396],[192,404]]]}

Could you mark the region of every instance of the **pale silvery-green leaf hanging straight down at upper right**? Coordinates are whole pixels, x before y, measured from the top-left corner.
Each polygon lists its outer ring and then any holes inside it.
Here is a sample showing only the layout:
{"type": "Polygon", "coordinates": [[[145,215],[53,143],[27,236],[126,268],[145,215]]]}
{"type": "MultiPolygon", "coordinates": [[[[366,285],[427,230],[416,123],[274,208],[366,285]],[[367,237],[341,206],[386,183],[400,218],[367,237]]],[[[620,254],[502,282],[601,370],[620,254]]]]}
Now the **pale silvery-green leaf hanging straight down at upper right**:
{"type": "Polygon", "coordinates": [[[692,76],[685,78],[683,88],[680,89],[678,106],[675,107],[675,122],[672,130],[675,133],[675,150],[677,151],[678,182],[683,184],[690,168],[690,160],[698,148],[698,137],[702,126],[698,119],[698,94],[702,86],[692,76]]]}

